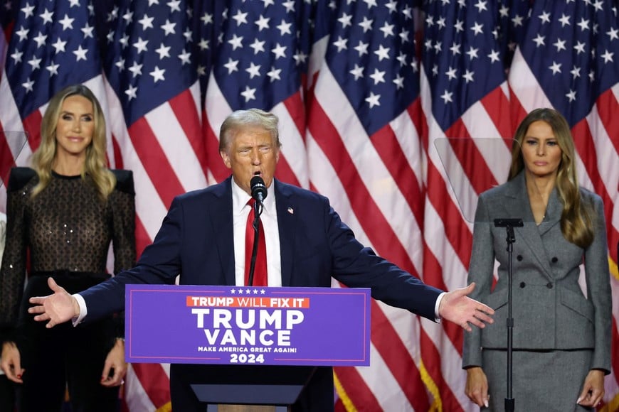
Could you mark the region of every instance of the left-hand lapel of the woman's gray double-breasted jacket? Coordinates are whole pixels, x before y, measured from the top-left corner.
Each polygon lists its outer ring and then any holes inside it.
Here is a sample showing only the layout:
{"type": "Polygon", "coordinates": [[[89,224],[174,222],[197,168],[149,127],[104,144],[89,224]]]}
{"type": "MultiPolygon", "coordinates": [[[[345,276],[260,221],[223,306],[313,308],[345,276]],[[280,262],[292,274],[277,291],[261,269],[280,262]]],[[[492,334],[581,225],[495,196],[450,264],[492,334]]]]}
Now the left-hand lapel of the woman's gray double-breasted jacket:
{"type": "Polygon", "coordinates": [[[516,242],[524,242],[529,246],[531,253],[539,262],[549,278],[552,278],[552,271],[546,256],[544,242],[541,241],[540,228],[535,223],[531,203],[527,195],[527,188],[524,181],[524,173],[520,173],[516,178],[507,183],[504,207],[508,217],[521,217],[523,227],[517,227],[514,231],[516,242]]]}

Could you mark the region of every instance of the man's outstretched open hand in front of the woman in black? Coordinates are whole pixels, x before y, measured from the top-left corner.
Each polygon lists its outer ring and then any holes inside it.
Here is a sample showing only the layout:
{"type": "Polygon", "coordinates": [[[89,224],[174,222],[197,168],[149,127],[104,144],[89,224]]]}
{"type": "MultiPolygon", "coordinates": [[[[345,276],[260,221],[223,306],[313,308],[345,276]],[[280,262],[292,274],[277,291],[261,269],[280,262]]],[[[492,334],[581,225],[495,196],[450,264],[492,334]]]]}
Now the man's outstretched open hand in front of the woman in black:
{"type": "Polygon", "coordinates": [[[58,286],[53,278],[48,278],[48,286],[53,291],[50,296],[36,296],[29,302],[34,306],[28,308],[28,313],[36,314],[34,320],[47,322],[47,328],[54,327],[59,323],[67,322],[80,315],[80,305],[64,288],[58,286]]]}

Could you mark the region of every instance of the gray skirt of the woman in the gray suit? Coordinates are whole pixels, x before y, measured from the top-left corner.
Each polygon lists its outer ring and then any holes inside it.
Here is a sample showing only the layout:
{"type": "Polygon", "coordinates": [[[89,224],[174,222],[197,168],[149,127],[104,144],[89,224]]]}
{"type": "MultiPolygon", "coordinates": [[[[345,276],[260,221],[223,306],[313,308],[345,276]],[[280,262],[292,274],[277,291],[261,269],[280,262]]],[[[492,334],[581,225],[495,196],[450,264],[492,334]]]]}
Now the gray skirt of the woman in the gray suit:
{"type": "MultiPolygon", "coordinates": [[[[512,352],[514,412],[593,411],[576,404],[591,365],[591,350],[512,352]]],[[[488,378],[490,408],[505,411],[507,350],[484,349],[483,369],[488,378]]]]}

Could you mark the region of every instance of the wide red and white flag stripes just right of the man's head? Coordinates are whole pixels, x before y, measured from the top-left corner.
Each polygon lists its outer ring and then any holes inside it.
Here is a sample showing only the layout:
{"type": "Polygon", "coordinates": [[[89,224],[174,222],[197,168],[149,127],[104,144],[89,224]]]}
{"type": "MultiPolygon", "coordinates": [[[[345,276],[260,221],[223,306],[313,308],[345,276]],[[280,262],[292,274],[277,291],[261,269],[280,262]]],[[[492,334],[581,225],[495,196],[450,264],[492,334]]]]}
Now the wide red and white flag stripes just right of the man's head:
{"type": "MultiPolygon", "coordinates": [[[[357,239],[418,275],[423,163],[408,112],[368,136],[327,65],[308,96],[307,155],[312,188],[327,195],[357,239]]],[[[371,367],[336,368],[339,401],[359,410],[425,411],[418,361],[419,321],[372,305],[371,367]]]]}

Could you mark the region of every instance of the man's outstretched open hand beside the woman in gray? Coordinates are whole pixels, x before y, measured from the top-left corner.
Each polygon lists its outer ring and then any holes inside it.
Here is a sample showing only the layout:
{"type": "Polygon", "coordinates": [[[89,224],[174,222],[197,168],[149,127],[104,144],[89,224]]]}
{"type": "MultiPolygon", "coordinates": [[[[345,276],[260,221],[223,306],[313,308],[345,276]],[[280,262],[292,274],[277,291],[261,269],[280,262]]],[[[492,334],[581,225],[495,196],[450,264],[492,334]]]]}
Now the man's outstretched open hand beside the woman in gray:
{"type": "Polygon", "coordinates": [[[494,310],[490,306],[468,297],[474,288],[475,283],[471,283],[466,288],[445,293],[438,306],[438,315],[460,325],[467,332],[472,331],[471,325],[485,327],[486,323],[494,322],[491,318],[494,310]]]}

